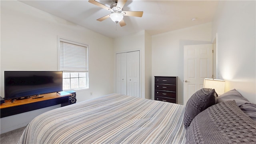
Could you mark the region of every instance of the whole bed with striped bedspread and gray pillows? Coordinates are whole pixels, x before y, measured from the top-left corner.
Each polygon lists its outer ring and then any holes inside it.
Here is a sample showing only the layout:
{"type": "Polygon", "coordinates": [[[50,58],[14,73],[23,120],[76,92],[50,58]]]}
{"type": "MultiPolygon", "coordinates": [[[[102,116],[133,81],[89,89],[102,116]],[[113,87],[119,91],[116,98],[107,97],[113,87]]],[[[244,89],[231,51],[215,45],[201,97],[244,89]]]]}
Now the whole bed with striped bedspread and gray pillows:
{"type": "Polygon", "coordinates": [[[236,89],[195,92],[186,106],[109,94],[45,112],[19,144],[256,144],[256,104],[236,89]]]}

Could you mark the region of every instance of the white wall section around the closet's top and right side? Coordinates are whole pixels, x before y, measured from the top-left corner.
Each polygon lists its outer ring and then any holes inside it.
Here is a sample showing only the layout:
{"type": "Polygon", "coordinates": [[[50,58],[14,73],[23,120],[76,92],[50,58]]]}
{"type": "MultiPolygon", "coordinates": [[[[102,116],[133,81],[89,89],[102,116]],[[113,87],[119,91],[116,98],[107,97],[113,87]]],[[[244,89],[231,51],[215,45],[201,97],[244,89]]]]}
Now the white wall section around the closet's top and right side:
{"type": "Polygon", "coordinates": [[[151,36],[142,30],[135,34],[114,38],[114,53],[140,50],[140,89],[141,98],[151,99],[151,36]]]}

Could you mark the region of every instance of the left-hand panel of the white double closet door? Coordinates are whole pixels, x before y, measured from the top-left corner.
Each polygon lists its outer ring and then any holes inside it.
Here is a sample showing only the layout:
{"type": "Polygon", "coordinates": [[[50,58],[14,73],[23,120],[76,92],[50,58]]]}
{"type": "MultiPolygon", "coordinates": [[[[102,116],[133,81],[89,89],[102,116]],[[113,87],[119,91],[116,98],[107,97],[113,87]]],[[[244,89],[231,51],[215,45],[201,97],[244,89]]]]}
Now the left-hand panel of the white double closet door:
{"type": "Polygon", "coordinates": [[[127,94],[126,53],[116,54],[116,93],[127,94]]]}

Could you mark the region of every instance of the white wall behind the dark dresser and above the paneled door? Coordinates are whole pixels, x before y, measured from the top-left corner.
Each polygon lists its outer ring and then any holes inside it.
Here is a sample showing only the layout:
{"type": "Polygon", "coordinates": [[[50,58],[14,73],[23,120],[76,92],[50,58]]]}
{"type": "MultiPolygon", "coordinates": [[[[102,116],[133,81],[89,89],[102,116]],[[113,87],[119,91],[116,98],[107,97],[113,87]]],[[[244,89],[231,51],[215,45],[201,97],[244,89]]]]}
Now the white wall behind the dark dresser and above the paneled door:
{"type": "Polygon", "coordinates": [[[154,76],[178,76],[178,104],[183,104],[184,45],[209,44],[211,40],[211,23],[152,36],[152,99],[154,76]]]}

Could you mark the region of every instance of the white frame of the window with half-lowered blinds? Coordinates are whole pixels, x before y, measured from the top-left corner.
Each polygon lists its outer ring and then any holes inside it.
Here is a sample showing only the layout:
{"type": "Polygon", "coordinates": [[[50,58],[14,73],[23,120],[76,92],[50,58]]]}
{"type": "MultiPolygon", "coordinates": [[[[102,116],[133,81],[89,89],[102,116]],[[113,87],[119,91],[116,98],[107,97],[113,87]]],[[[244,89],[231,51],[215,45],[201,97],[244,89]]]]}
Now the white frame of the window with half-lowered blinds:
{"type": "MultiPolygon", "coordinates": [[[[57,61],[58,61],[58,70],[59,71],[63,71],[64,72],[85,72],[85,80],[87,81],[87,87],[82,87],[82,88],[71,88],[71,85],[70,85],[70,89],[67,89],[67,90],[86,90],[86,89],[89,89],[89,60],[88,60],[88,51],[89,51],[89,46],[87,44],[83,44],[83,43],[80,43],[80,42],[75,42],[74,40],[68,40],[66,38],[62,38],[60,36],[58,36],[58,56],[57,56],[57,61]],[[83,46],[83,47],[86,47],[87,48],[87,70],[60,70],[60,42],[67,42],[67,43],[70,43],[70,44],[75,44],[75,45],[78,45],[78,46],[83,46]]],[[[63,80],[64,78],[62,78],[63,80]]],[[[71,78],[69,78],[71,80],[71,78]]],[[[79,79],[79,74],[78,74],[78,79],[79,79]]],[[[63,84],[63,83],[62,83],[63,84]]],[[[70,83],[71,84],[71,83],[70,83]]],[[[79,84],[79,81],[78,81],[78,84],[79,84]]]]}

